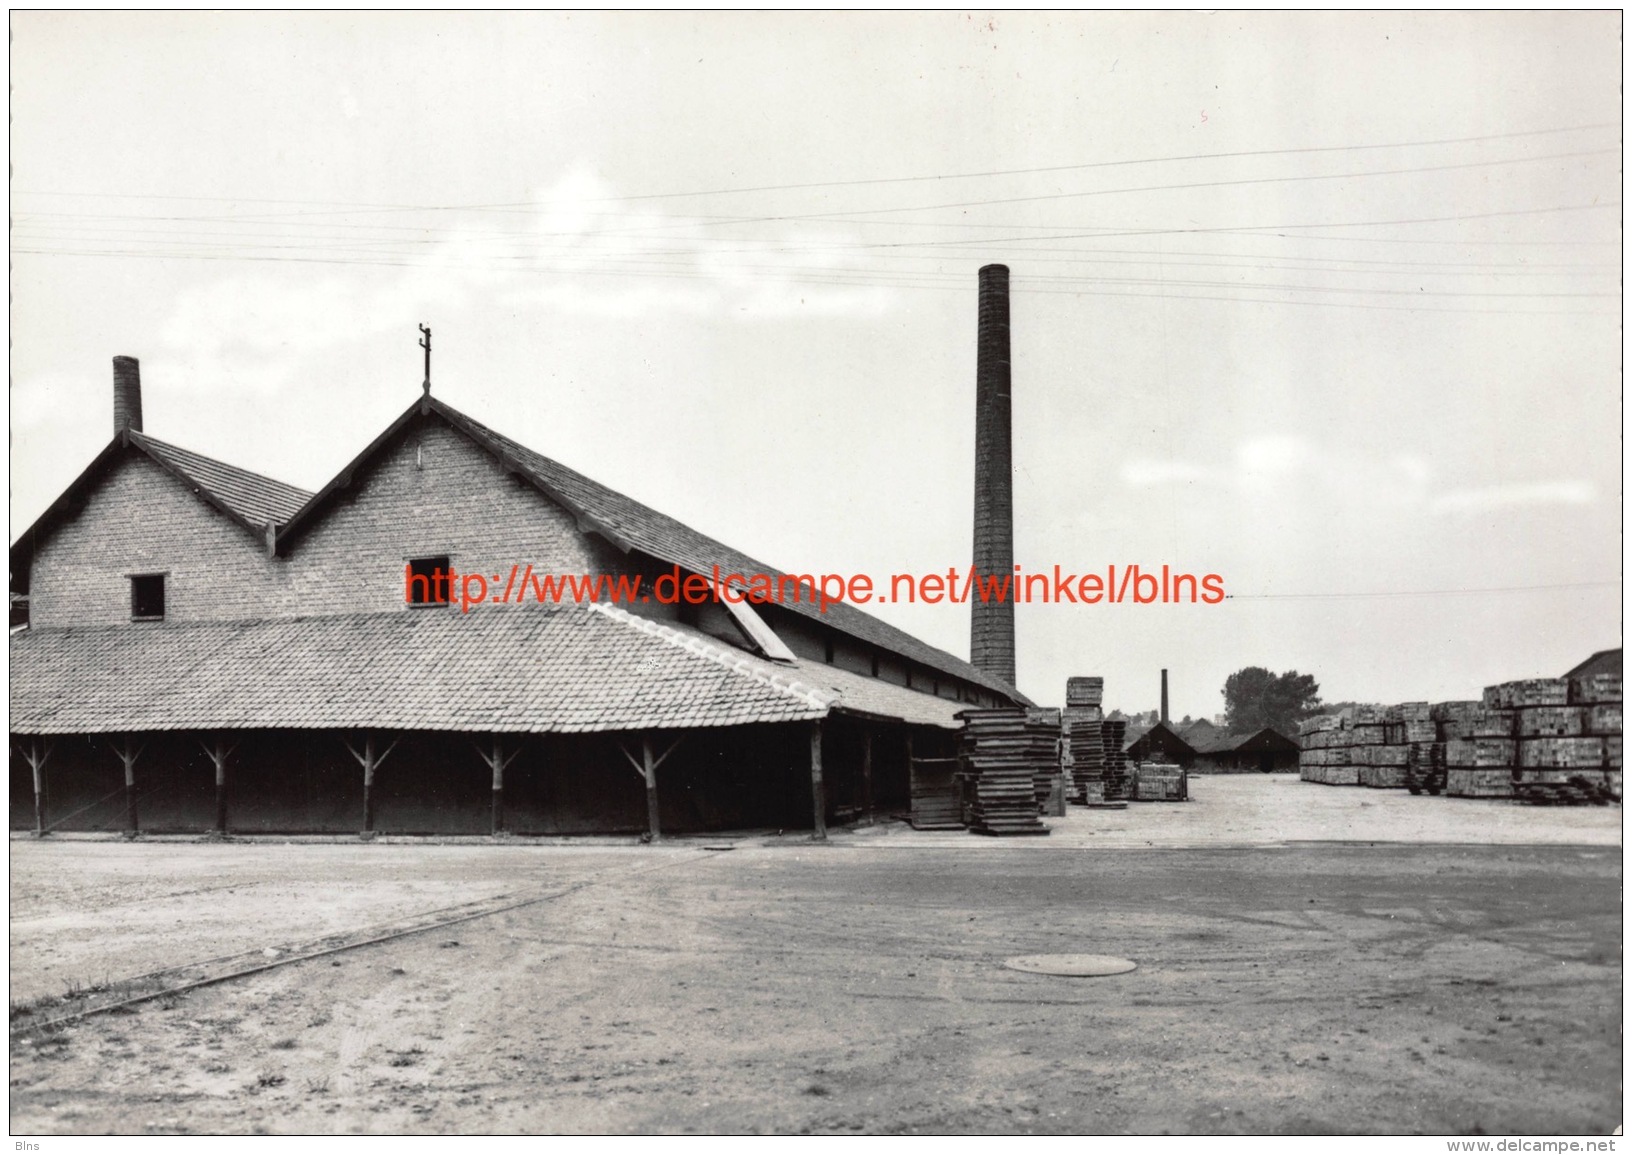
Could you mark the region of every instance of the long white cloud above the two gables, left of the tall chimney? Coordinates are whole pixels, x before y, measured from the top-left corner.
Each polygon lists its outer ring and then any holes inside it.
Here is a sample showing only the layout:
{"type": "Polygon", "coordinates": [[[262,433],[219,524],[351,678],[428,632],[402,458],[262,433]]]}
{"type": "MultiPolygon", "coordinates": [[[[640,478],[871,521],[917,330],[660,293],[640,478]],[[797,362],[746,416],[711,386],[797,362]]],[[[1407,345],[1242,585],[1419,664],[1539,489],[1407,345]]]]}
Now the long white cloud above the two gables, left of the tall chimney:
{"type": "MultiPolygon", "coordinates": [[[[615,197],[578,165],[516,210],[454,215],[423,235],[370,223],[335,254],[313,251],[356,271],[279,263],[233,274],[176,300],[160,336],[212,390],[269,393],[302,372],[302,357],[322,361],[325,349],[478,303],[550,316],[762,320],[871,316],[898,300],[878,284],[847,284],[834,250],[800,248],[792,233],[747,240],[744,228],[615,197]]],[[[824,240],[854,237],[836,225],[824,240]]]]}

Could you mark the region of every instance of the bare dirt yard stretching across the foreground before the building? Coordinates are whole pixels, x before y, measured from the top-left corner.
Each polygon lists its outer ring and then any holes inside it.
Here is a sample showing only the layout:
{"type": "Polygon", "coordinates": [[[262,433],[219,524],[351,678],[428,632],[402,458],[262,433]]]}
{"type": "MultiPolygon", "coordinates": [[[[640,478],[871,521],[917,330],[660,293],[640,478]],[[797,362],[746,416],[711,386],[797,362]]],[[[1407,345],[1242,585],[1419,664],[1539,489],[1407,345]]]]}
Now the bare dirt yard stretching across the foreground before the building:
{"type": "MultiPolygon", "coordinates": [[[[1221,817],[1389,793],[1219,783],[1221,817]]],[[[13,1003],[557,897],[13,1034],[11,1132],[1609,1132],[1621,852],[1585,822],[1575,845],[1098,847],[1079,817],[1058,840],[13,840],[13,1003]],[[1002,966],[1048,951],[1139,969],[1002,966]]]]}

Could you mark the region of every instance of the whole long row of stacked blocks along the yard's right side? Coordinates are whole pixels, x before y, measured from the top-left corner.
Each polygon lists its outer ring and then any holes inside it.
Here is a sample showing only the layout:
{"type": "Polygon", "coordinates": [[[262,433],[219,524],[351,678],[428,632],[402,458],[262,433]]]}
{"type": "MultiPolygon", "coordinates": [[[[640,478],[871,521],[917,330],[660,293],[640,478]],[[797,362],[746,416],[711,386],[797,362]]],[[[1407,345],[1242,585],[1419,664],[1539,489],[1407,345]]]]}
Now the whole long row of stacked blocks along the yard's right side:
{"type": "Polygon", "coordinates": [[[1348,706],[1297,732],[1304,781],[1547,806],[1621,799],[1619,674],[1503,682],[1474,701],[1348,706]]]}

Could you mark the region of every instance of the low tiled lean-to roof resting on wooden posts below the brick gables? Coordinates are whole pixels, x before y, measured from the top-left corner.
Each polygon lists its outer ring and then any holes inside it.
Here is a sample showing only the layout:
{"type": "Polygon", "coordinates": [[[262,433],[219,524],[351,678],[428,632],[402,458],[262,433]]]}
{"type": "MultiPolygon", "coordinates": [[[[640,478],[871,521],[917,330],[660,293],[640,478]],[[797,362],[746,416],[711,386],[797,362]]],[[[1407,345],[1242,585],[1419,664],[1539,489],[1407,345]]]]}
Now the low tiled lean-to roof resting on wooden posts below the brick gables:
{"type": "Polygon", "coordinates": [[[23,630],[11,732],[586,732],[803,721],[955,726],[958,703],[769,662],[605,605],[23,630]]]}

